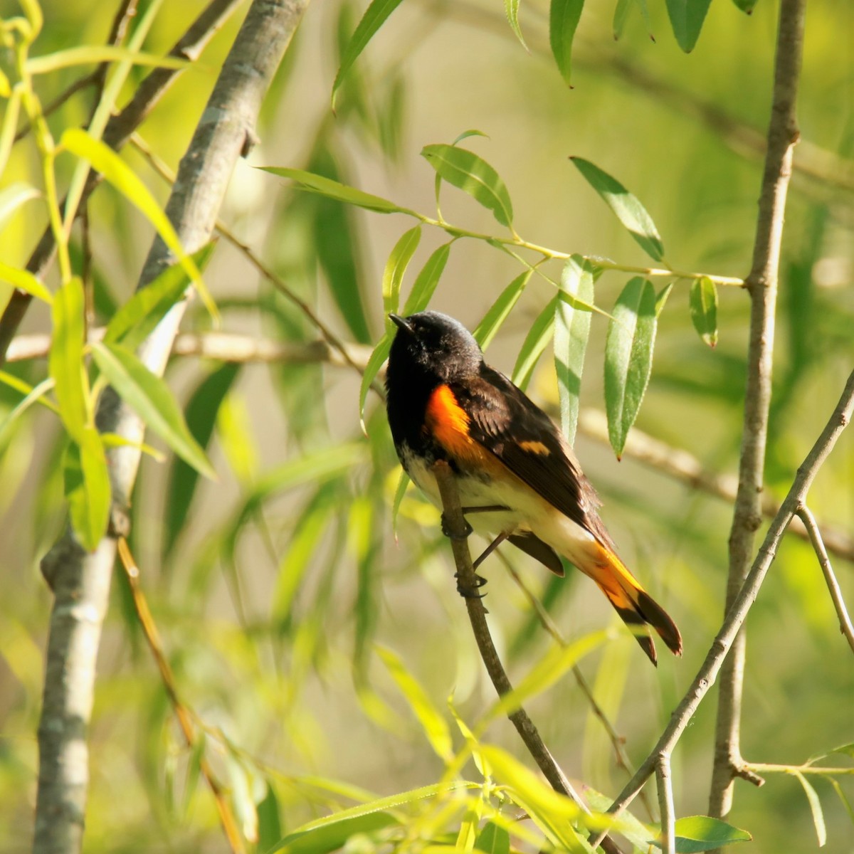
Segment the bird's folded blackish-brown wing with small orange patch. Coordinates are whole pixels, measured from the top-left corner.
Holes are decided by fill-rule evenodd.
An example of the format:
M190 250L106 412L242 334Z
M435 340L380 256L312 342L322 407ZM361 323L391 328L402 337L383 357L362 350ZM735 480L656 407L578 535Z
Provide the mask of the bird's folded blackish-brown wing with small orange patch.
M470 418L471 438L500 459L530 488L613 547L596 508L599 496L551 418L499 371L484 365L480 377L452 384Z

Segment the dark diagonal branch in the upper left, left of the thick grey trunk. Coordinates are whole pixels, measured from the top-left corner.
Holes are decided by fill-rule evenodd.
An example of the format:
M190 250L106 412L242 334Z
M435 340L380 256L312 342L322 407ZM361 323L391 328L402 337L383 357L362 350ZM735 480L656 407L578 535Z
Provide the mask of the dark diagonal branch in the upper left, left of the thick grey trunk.
M208 6L202 10L196 20L184 35L178 39L167 56L174 56L188 61L195 60L208 44L213 35L219 30L223 22L237 8L241 0L211 0ZM140 126L160 101L164 93L173 82L178 79L178 74L183 68L157 67L149 73L137 88L131 100L119 114L114 115L104 127L102 141L110 148L118 151L130 138L138 126ZM93 76L92 83L97 83ZM83 194L80 196L78 210L85 207L85 202L91 196L93 190L101 183L100 173L92 170L86 178ZM61 207L64 207L62 202ZM26 269L36 278L44 279L50 265L56 255L56 241L50 228L45 229L36 248L26 263ZM27 309L32 302L32 295L25 290L15 289L9 298L9 302L0 315L0 366L5 360L6 350L9 342L15 337L15 333L21 321L26 315Z

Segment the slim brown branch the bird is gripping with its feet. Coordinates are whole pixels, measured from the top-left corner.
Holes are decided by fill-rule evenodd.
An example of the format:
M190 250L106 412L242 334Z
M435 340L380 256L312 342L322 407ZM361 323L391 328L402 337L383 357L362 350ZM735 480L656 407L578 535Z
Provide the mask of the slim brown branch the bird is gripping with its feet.
M463 508L459 502L457 483L450 465L442 459L434 463L433 474L442 496L442 509L453 549L453 561L457 566L459 588L474 591L477 589L477 576L471 564L471 553L469 553L468 535L470 529L465 523ZM512 691L512 685L507 678L504 665L501 664L501 659L498 657L498 652L495 650L492 635L489 634L486 608L483 607L483 601L475 595L465 595L464 599L469 612L471 629L474 632L481 658L483 658L483 664L486 666L495 691L499 697L503 697ZM528 713L520 706L507 717L516 727L524 745L528 748L528 752L554 791L566 795L580 810L588 813L590 810L588 810L587 804L573 789L570 781L566 779L564 772L555 762L554 757L537 732L534 722L528 717ZM619 848L609 837L603 836L603 839L600 839L600 844L608 854L619 854Z

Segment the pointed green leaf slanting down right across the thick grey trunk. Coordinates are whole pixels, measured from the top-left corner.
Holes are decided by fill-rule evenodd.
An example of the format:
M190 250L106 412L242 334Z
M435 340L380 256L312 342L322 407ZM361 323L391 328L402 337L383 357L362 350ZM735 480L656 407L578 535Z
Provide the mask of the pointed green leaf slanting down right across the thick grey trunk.
M193 438L172 392L161 377L149 371L120 344L96 342L92 356L116 393L131 406L181 459L205 477L216 480L216 472L205 452Z

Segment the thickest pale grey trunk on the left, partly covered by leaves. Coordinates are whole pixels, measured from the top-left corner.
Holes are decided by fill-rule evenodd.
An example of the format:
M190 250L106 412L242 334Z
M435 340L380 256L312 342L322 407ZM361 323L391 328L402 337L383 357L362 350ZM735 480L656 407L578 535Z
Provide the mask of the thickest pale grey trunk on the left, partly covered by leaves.
M221 7L228 5L220 3ZM237 159L245 152L248 140L254 138L262 97L306 5L307 0L254 0L237 33L167 204L167 215L187 252L208 242ZM155 239L139 286L155 278L169 262L166 247ZM182 301L173 307L140 348L143 363L158 375L166 366L185 305ZM101 430L137 444L109 452L114 504L122 506L137 474L143 424L109 389L99 401L97 424ZM114 513L109 535L91 554L85 553L67 530L43 561L44 575L56 598L38 729L34 842L38 854L73 854L82 844L88 782L86 729L95 661L115 559L115 537L124 535L126 529L126 518Z

